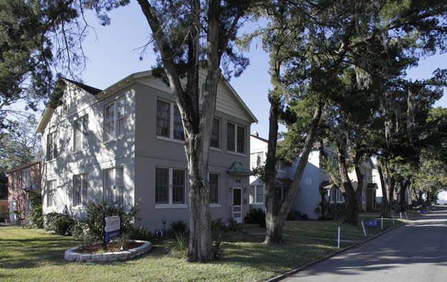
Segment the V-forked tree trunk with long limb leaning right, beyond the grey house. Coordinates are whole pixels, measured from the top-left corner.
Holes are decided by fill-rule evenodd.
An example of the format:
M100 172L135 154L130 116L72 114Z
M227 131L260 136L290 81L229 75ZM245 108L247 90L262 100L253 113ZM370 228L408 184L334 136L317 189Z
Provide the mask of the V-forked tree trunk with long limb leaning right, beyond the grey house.
M309 132L307 132L307 137L305 140L305 145L303 148L303 153L301 154L300 161L298 163L298 167L296 167L296 172L294 175L294 179L292 180L292 185L289 189L289 193L287 193L287 198L285 198L281 208L276 207L274 204L274 178L268 179L269 185L265 185L268 193L268 198L265 199L265 239L264 244L274 244L283 242L283 227L285 224L285 219L290 212L290 208L295 200L296 192L298 191L298 187L301 182L301 178L303 177L304 169L307 165L307 161L309 159L309 154L312 151L312 145L314 144L314 139L316 136L316 130L318 128L318 124L320 122L321 113L323 111L324 103L318 103L318 107L314 112L314 116L312 117L312 122L309 126ZM270 111L270 115L272 115L272 110ZM270 138L275 138L278 135L277 129L277 119L274 121L276 124L276 131L269 132L269 143ZM275 125L272 124L272 120L270 121L270 130L274 129ZM275 142L276 143L276 142ZM273 145L273 144L272 144ZM275 145L276 148L276 145ZM270 150L270 146L269 146ZM268 152L269 154L269 152ZM276 154L276 150L274 152ZM265 169L267 169L267 163L265 165ZM274 167L270 166L270 169L274 169ZM270 172L270 175L273 175ZM276 171L274 172L276 175Z

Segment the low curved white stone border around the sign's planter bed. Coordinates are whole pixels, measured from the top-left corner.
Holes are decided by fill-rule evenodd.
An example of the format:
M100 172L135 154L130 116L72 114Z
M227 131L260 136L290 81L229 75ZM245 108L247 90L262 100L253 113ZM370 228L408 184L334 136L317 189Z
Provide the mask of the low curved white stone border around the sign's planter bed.
M74 252L79 246L71 248L65 251L65 259L67 261L76 262L93 262L93 261L125 261L126 259L133 259L140 255L145 254L151 250L151 242L134 240L133 242L143 243L137 248L132 248L130 250L124 250L122 252L104 252L102 254L81 254L79 252ZM97 243L101 244L101 243Z

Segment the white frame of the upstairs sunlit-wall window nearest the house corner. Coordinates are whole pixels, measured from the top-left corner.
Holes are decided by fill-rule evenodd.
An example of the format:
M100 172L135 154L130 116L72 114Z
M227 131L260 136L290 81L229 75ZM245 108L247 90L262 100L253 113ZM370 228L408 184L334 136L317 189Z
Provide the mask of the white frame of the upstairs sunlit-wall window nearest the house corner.
M113 117L108 122L107 120L107 108L113 108ZM121 110L121 111L120 111ZM104 141L114 141L124 137L124 118L126 117L126 102L124 97L116 99L104 106ZM110 128L113 130L109 130Z

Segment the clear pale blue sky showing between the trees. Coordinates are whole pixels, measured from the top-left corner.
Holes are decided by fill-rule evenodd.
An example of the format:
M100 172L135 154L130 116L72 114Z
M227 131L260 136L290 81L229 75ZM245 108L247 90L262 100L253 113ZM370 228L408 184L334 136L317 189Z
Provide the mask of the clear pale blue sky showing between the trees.
M131 1L124 8L112 10L109 13L111 25L98 25L93 13L89 12L87 21L95 30L91 30L83 47L89 58L87 69L83 73L84 83L99 89L105 89L131 73L146 71L155 65L155 54L152 47L140 58L140 47L150 40L151 32L144 18L140 5ZM250 29L252 24L246 25ZM251 132L257 130L260 137L268 137L269 103L268 89L271 88L268 75L268 55L252 43L252 49L247 56L250 66L239 78L232 78L230 84L241 96L248 108L259 120L252 124ZM447 67L447 54L421 60L419 67L408 71L408 77L415 79L429 78L437 68ZM444 95L435 106L447 108L447 97Z

